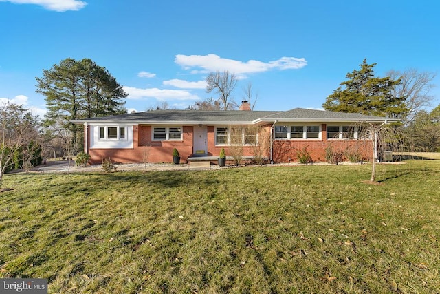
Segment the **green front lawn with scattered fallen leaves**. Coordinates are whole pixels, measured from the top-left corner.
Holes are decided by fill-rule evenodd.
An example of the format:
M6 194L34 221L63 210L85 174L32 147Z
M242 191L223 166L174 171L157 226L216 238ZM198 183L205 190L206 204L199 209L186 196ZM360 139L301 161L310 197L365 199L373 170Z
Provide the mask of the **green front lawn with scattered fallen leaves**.
M439 293L440 162L12 174L0 277L50 293ZM397 290L396 290L397 287Z

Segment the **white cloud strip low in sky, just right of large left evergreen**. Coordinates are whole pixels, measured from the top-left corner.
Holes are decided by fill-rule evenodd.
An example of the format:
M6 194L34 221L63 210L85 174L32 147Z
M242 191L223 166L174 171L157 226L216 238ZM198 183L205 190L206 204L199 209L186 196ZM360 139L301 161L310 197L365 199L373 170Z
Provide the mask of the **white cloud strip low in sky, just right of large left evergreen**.
M157 88L141 89L124 86L124 91L129 93L129 96L127 97L128 99L156 98L159 101L165 101L166 99L199 100L199 96L193 95L184 90L168 90Z

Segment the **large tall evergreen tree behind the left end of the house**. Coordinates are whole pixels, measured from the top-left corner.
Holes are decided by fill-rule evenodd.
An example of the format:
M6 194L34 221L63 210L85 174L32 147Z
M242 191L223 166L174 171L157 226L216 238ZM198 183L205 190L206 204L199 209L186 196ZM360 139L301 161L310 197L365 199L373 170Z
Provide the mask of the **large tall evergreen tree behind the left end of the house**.
M61 122L72 132L73 146L78 146L83 136L81 127L70 120L126 113L124 98L128 94L104 67L91 59L65 59L50 70L43 70L43 77L36 81L36 92L46 97L45 125L53 127Z

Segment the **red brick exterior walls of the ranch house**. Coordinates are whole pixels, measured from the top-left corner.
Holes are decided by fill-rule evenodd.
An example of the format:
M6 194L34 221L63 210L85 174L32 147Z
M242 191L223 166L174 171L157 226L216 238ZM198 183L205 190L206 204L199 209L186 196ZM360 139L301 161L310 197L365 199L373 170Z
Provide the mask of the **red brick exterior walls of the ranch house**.
M371 140L327 140L327 127L322 124L322 140L274 140L274 162L296 162L298 151L307 150L314 162L325 162L326 149L342 154L342 160L349 160L349 154L360 154L366 160L371 160L373 143ZM92 164L101 164L102 158L111 158L114 162L173 162L173 149L177 148L181 162L186 162L192 155L193 133L192 126L183 127L183 140L153 141L151 126L135 125L133 127L133 149L89 149ZM208 155L219 156L221 148L230 155L230 147L215 145L215 128L208 126ZM271 125L265 125L262 133L270 135ZM88 133L89 136L91 135ZM262 138L263 135L260 136ZM261 139L260 139L261 140ZM87 140L90 144L90 140ZM267 142L264 156L270 158L270 141ZM243 156L252 156L252 146L243 147Z

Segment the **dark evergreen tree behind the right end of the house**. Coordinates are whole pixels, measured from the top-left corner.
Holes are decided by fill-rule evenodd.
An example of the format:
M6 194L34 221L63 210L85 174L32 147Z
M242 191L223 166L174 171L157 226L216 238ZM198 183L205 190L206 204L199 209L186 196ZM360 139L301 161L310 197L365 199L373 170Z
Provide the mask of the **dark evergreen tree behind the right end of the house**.
M399 79L377 78L373 67L366 59L360 70L347 74L347 81L340 83L333 94L322 105L324 109L335 112L351 112L375 116L401 118L408 113L405 97L393 95L393 87L399 85Z

